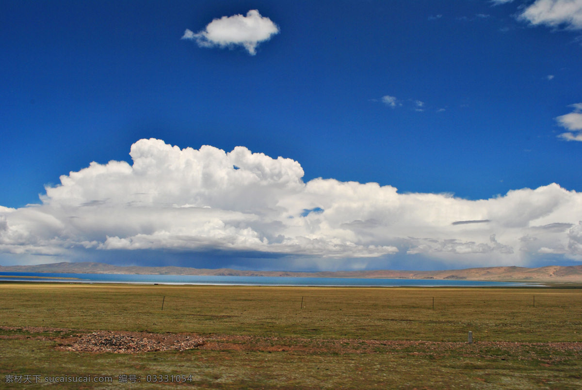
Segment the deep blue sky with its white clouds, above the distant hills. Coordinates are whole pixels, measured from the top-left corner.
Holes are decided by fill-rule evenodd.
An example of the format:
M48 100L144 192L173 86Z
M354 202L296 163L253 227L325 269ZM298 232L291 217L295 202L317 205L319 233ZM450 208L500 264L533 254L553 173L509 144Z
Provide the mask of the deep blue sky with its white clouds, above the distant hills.
M109 262L131 259L127 261L135 263L139 262L136 257L165 256L172 259L166 262L206 267L428 269L574 264L582 260L582 241L577 241L582 237L578 231L578 221L582 220L579 0L56 0L1 1L0 5L0 222L4 221L0 262L4 264L104 257ZM235 22L243 19L233 17L250 17L250 10L257 10L257 20L263 24L250 33L237 30L240 26ZM219 42L213 40L210 25L221 17L225 17L223 24L212 25L226 31ZM228 30L230 27L234 30ZM193 37L182 39L187 30ZM247 33L259 38L249 38L247 46L239 44ZM66 192L60 177L70 172L88 174L83 169L91 162L99 165L94 170L113 169L106 165L110 160L125 161L131 167L136 159L129 155L130 148L140 139L150 138L164 142L143 142L135 146L140 150L137 154L150 153L152 148L165 150L162 144L195 150L211 145L225 152L244 146L271 158L267 161L251 155L255 157L248 159L258 159L251 164L254 168L267 164L269 174L283 169L283 176L294 177L289 182L293 185L283 185L278 176L276 185L286 186L287 192L277 187L272 194L275 201L269 199L255 208L244 199L253 199L258 190L249 190L251 182L229 178L235 181L225 187L198 184L202 187L170 191L163 202L150 199L147 204L151 208L141 209L151 218L159 211L152 205L161 203L243 213L244 218L260 220L261 227L212 216L212 221L222 223L215 226L215 232L228 235L230 228L238 229L229 236L236 242L242 235L255 234L257 242L267 240L265 247L233 244L235 241L225 247L220 240L214 241L220 235L180 224L179 228L171 223L154 226L151 221L123 230L111 219L101 230L88 231L87 227L68 226L70 217L81 218L73 209L68 209L66 216L56 214L57 204L61 209L85 205L95 208L83 214L92 221L107 214L104 207L125 205L117 214L127 212L125 218L135 219L135 210L128 211L132 206L125 198L137 193L134 188L118 186L103 193L91 192L91 188L106 187L104 183L115 180L90 174L93 181L79 179ZM222 163L236 160L231 157L224 157ZM153 175L146 180L152 188L178 188L179 183L189 180L164 173L168 162L158 154L149 158L159 170L158 176L153 171L144 173ZM271 166L275 162L282 165ZM290 162L295 162L292 168ZM303 174L296 169L299 164ZM257 188L275 185L264 169L259 169L262 176L253 181ZM162 176L173 177L175 182L157 183L155 177ZM312 182L317 178L339 184L336 189L313 190L320 194L318 198L310 189L324 183ZM342 185L350 181L378 183L381 193L374 198L372 190L366 189L364 195L354 195L357 199L349 202L363 202L363 206L346 211L332 194L336 190L343 194ZM552 183L558 186L548 187ZM294 185L303 185L311 195ZM52 195L45 186L54 189ZM295 189L291 191L289 186ZM422 206L410 206L415 210L460 207L465 211L443 211L447 216L438 222L427 219L413 223L406 217L395 217L405 213L404 209L385 219L373 218L378 210L403 203L398 196L398 201L388 199L386 194L392 194L393 188L399 195L426 198L432 194L442 201L430 207L421 201ZM237 192L240 203L217 201L228 198L226 193L235 189L241 191ZM193 195L212 191L219 192L206 203L201 195ZM359 194L359 190L354 191ZM537 195L524 195L538 194L535 191L553 191L544 197L549 208L540 215L534 209L543 208L543 202L530 199ZM42 201L39 195L44 197ZM384 199L385 195L388 198L382 202L386 203L374 209L371 205L375 201L370 199ZM301 201L285 201L293 196ZM521 200L513 204L512 196ZM522 205L522 198L529 203ZM491 206L482 209L480 205L487 199ZM501 206L495 199L511 203L503 206L508 210L525 207L519 209L520 215L533 213L532 217L520 227L512 226L508 221L515 216L496 214ZM452 206L449 202L456 203ZM29 204L41 206L26 206ZM317 207L317 212L304 211ZM267 217L267 209L280 213ZM48 215L60 224L40 223L38 216L29 215L33 211L41 213L43 221ZM289 217L294 223L301 220L303 230L287 226ZM204 220L200 216L189 218ZM375 222L368 224L365 232L346 227L354 221L371 220ZM455 229L466 226L470 231L450 231L449 220L488 222L457 224ZM274 224L285 228L272 228ZM434 229L423 231L430 224ZM481 229L478 232L477 226ZM544 226L549 227L544 230ZM423 227L420 231L425 237L411 236L418 227ZM535 228L552 234L538 237L528 230ZM138 236L159 238L162 233L168 236L161 241L150 237L149 246L136 244ZM186 244L168 238L178 235ZM493 239L491 235L495 235ZM211 236L214 238L208 238ZM55 243L55 237L62 242ZM544 244L524 246L529 242L524 237ZM118 242L115 246L111 241L109 245L109 238L129 244L123 241L127 245ZM425 238L440 244L435 247L415 241ZM303 239L312 240L311 244L301 244ZM327 249L307 250L313 240L335 242L335 246L329 244L333 246L329 249L328 244L322 244ZM151 244L154 241L158 244ZM459 245L451 249L450 242L465 249ZM350 252L342 246L352 244L368 249ZM497 244L511 250L501 250ZM370 246L385 249L371 250ZM114 256L118 260L111 260L113 252L108 249L120 251ZM140 251L147 255L136 255ZM216 255L217 251L222 254ZM201 260L187 260L193 256Z

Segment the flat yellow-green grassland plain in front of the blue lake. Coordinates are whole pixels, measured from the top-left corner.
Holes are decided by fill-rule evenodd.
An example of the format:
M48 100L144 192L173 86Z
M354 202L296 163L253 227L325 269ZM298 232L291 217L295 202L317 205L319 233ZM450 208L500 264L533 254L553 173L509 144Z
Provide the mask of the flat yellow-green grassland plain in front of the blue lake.
M113 377L111 384L84 388L582 388L582 289L576 286L3 282L0 296L0 387L6 388L27 387L6 384L14 374ZM192 333L207 344L133 355L58 349L94 330ZM120 374L141 382L120 384ZM153 384L148 374L186 374L191 381Z

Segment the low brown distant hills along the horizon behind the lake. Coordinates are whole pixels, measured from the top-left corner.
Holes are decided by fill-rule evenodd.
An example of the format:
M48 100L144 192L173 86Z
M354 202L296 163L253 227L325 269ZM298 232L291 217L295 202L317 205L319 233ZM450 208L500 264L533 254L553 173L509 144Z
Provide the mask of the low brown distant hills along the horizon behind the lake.
M186 267L119 267L104 263L52 263L36 266L0 266L0 272L38 272L71 274L140 274L140 275L218 275L218 276L285 276L386 279L452 279L489 281L561 281L582 282L582 265L526 267L484 267L445 271L240 271L228 268L197 269Z

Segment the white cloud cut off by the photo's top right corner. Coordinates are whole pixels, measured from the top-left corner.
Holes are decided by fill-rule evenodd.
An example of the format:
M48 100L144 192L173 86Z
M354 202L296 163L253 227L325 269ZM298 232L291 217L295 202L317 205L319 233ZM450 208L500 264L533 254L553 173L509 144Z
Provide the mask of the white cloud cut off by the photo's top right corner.
M565 26L569 30L582 29L582 0L536 0L519 18L537 26Z

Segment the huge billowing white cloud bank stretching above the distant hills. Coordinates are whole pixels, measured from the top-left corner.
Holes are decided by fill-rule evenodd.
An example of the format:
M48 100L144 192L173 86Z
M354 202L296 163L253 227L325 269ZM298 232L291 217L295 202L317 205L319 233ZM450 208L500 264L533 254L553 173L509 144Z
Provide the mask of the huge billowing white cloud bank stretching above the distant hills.
M582 260L582 194L558 184L470 201L316 178L292 159L159 139L61 176L41 203L0 206L0 253L237 251L318 261L422 254L464 266ZM47 262L43 259L42 262ZM414 264L411 264L414 267Z

